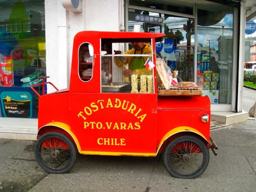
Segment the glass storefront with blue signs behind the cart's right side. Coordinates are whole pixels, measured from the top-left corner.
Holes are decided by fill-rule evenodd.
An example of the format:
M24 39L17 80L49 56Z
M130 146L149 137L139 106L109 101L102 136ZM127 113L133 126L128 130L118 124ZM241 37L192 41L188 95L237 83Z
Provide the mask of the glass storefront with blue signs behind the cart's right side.
M139 1L127 5L127 30L165 33L156 53L179 71L182 81L196 82L209 96L212 110L236 110L239 4L210 1ZM233 106L232 106L233 105Z

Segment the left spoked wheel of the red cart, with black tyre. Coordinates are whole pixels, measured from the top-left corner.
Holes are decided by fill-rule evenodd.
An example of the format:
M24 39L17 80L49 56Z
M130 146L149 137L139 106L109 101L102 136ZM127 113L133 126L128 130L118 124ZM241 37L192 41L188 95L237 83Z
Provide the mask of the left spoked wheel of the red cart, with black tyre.
M49 132L40 136L34 153L40 167L48 173L66 173L76 162L76 148L62 133Z

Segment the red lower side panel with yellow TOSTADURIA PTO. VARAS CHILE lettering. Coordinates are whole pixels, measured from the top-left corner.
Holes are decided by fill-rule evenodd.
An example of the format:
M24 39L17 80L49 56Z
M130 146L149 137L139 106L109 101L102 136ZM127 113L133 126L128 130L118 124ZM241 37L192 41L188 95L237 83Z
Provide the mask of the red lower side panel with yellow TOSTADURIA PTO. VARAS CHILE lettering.
M74 93L71 103L82 151L156 152L157 94Z

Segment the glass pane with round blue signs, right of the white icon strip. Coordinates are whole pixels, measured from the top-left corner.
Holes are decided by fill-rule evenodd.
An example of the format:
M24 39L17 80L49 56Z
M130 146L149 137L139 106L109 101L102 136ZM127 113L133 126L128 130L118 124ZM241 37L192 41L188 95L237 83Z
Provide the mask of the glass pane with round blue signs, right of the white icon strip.
M158 55L178 71L178 81L194 81L194 19L165 14L165 42Z

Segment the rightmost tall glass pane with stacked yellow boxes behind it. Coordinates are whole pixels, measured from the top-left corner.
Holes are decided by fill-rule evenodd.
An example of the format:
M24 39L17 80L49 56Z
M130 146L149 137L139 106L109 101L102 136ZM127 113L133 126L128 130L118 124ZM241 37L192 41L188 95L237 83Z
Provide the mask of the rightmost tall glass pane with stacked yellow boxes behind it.
M197 83L211 103L231 104L233 8L198 5Z

